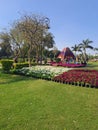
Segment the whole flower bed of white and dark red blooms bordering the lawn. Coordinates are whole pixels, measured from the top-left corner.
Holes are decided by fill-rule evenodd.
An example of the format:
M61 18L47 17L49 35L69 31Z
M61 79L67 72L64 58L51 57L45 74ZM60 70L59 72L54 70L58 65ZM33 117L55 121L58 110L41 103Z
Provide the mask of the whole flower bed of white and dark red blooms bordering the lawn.
M96 70L72 70L71 68L53 66L33 66L16 69L14 73L66 84L98 88L98 71Z

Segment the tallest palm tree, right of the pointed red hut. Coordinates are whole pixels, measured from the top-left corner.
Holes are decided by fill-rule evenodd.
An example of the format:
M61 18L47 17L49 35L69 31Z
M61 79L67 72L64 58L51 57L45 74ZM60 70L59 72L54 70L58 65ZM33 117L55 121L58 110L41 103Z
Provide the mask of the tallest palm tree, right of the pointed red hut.
M90 41L89 39L83 40L82 43L79 44L79 47L83 50L83 56L84 56L84 63L87 62L87 54L86 49L93 49L93 47L90 45L93 41Z

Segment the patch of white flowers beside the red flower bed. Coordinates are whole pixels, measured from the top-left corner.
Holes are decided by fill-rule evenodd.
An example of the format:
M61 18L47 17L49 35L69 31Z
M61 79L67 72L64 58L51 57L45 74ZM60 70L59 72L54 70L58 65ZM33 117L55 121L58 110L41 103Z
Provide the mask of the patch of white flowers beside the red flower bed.
M68 70L69 68L62 68L62 67L33 66L33 67L24 67L22 69L16 69L14 70L14 73L42 79L52 79L55 76Z

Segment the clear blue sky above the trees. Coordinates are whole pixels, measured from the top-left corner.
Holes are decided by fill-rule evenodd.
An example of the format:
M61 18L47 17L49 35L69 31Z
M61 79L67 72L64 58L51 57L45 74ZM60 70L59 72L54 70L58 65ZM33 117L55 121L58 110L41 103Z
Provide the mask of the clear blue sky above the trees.
M0 32L24 13L50 19L49 31L59 50L87 38L98 47L98 0L0 0Z

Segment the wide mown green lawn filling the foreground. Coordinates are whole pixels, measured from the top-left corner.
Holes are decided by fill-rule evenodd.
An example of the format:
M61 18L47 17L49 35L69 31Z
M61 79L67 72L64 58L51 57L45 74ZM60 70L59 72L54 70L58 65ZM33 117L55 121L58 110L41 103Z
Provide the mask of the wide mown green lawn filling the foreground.
M0 130L98 130L98 89L0 73Z

